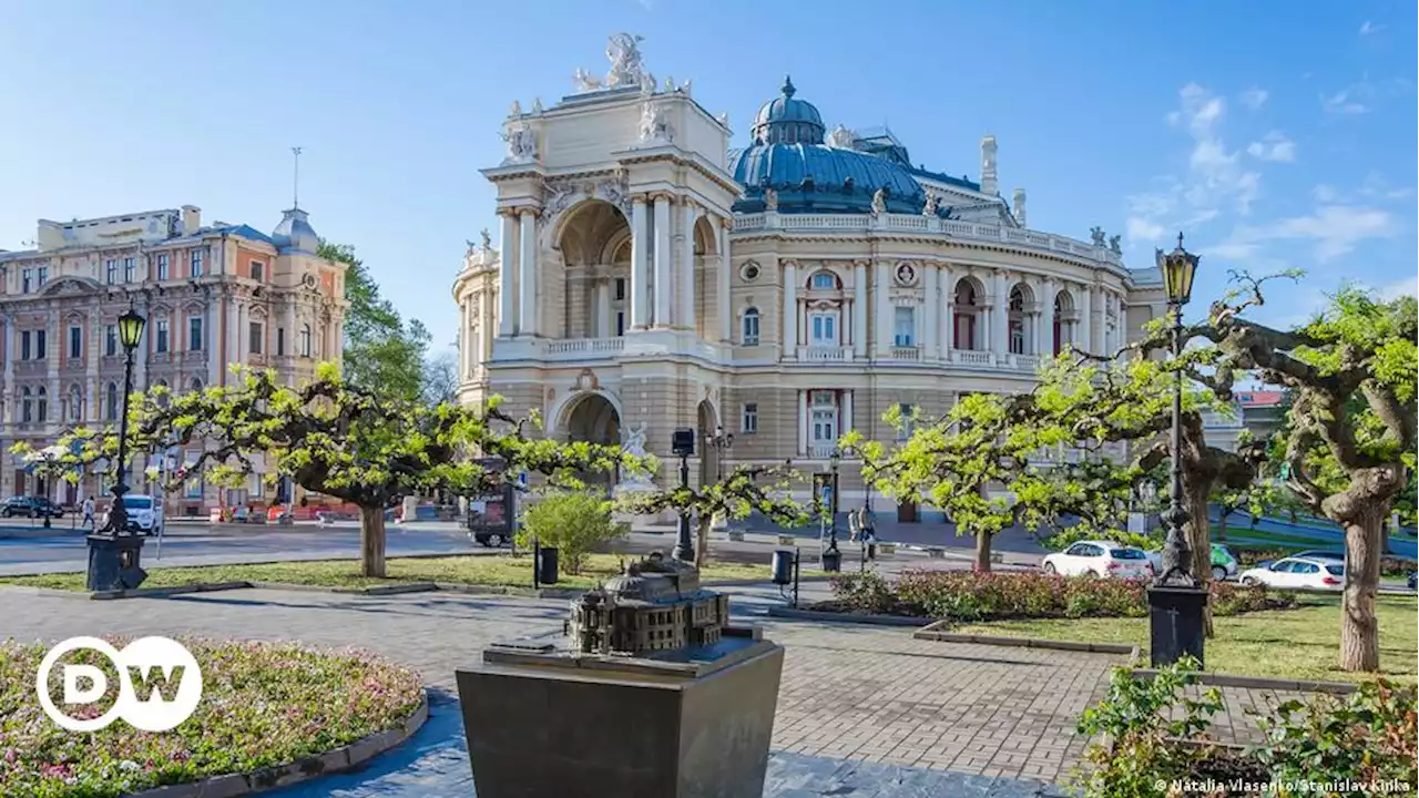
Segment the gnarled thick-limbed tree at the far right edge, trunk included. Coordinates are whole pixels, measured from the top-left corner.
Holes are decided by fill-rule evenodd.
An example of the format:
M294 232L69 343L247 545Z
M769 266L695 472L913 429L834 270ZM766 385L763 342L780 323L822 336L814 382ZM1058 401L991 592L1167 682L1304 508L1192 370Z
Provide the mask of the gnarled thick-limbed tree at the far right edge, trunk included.
M1314 321L1280 331L1244 318L1264 302L1264 280L1235 277L1240 293L1213 304L1198 332L1223 352L1219 372L1291 389L1286 484L1345 530L1340 666L1376 670L1384 528L1419 450L1419 298L1344 288ZM1347 409L1354 399L1362 405Z

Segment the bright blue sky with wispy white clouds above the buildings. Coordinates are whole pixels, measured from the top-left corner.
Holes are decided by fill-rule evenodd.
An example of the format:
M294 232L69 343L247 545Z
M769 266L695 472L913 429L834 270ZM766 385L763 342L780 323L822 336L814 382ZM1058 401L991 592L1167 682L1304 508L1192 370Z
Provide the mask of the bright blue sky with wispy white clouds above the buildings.
M1264 315L1301 319L1342 280L1419 293L1419 6L1405 1L922 1L871 6L9 0L0 4L0 248L37 217L193 203L270 230L291 202L355 244L385 293L453 341L465 239L512 99L551 105L606 35L692 80L736 143L792 72L829 125L888 124L912 159L978 176L1030 226L1122 233L1132 267L1178 229L1227 268L1308 271Z

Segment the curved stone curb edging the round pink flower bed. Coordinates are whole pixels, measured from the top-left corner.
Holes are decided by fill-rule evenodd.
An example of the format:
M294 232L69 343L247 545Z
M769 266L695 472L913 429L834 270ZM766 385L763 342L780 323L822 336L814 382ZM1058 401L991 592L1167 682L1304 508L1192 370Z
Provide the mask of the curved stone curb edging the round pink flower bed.
M264 792L277 787L289 787L322 775L355 770L413 737L427 720L429 690L426 689L414 714L404 718L404 724L400 728L376 731L333 751L301 757L284 765L250 772L214 775L189 784L155 787L142 792L132 792L126 798L234 798L237 795Z

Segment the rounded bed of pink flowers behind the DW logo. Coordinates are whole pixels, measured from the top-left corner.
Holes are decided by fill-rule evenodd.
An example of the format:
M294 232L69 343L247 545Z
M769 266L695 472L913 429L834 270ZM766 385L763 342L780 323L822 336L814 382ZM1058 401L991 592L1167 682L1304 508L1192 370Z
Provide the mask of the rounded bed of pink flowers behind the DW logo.
M111 639L122 649L128 640ZM419 677L372 653L287 643L183 639L201 666L203 699L177 728L150 734L115 721L95 733L60 728L40 709L34 679L45 645L0 642L0 795L109 798L250 772L402 728L420 706ZM116 673L95 652L62 662ZM50 692L62 700L61 669ZM74 717L95 717L112 693Z

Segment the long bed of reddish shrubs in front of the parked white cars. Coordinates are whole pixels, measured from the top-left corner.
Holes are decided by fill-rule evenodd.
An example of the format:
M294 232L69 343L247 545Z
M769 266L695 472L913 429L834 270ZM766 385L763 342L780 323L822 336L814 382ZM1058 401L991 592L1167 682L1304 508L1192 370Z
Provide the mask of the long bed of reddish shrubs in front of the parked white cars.
M1025 618L1141 618L1148 613L1142 579L1087 579L1047 574L976 574L971 571L907 571L897 582L877 574L850 574L832 581L834 599L813 609L914 615L961 622ZM1237 615L1294 605L1288 594L1264 586L1210 582L1212 612Z

